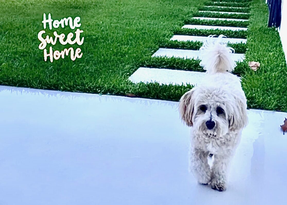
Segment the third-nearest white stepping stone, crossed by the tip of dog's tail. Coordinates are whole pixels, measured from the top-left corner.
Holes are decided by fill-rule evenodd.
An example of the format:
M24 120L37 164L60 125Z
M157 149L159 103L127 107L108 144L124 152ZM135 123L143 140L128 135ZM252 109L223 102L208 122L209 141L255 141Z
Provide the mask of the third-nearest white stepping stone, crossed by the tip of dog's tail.
M205 36L187 36L187 35L174 35L171 41L201 41L205 42L207 39L216 41L216 37L210 38ZM236 39L236 38L222 38L225 43L246 43L247 39Z

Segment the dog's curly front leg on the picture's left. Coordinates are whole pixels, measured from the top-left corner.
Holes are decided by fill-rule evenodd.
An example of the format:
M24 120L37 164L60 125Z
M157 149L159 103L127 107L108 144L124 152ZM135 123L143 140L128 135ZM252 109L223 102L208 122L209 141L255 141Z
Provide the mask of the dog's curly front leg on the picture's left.
M198 183L203 185L207 185L211 177L211 170L207 160L208 154L208 152L199 148L191 147L190 150L190 171L196 177Z

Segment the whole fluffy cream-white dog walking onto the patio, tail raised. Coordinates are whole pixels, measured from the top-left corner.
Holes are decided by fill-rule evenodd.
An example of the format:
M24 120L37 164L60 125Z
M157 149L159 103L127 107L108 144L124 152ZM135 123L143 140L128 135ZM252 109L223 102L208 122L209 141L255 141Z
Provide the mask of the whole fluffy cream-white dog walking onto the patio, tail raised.
M190 170L200 184L218 191L226 190L228 164L248 121L241 81L230 73L236 66L234 49L221 43L222 37L210 36L199 49L206 76L179 102L181 118L191 127Z

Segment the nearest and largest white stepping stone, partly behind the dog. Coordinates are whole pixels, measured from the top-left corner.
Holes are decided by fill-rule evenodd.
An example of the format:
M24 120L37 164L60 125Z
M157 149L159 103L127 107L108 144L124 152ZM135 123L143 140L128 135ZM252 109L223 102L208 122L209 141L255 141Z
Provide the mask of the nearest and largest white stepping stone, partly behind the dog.
M129 80L133 83L157 82L165 85L196 85L205 75L205 72L141 67L129 77Z

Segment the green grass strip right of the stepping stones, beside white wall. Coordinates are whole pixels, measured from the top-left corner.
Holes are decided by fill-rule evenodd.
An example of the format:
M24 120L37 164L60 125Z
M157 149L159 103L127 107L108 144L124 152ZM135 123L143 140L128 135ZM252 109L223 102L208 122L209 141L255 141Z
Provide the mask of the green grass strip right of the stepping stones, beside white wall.
M267 28L268 7L265 1L250 3L246 63L260 62L258 71L246 69L242 86L249 108L287 111L286 61L278 31Z

